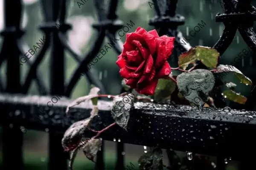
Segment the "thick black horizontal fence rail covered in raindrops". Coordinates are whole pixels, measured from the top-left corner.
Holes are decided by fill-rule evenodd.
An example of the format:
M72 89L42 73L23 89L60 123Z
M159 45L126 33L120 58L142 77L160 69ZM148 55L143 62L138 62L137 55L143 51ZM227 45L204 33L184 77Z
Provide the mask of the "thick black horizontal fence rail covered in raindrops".
M63 98L51 108L47 102L50 96L23 96L0 94L0 124L6 120L27 129L45 130L49 128L63 133L73 122L90 116L92 105L85 102L70 108L65 115L67 104L73 100ZM15 104L14 104L15 103ZM90 126L102 129L113 123L112 102L99 101L99 117ZM40 110L41 119L35 119ZM159 105L134 103L128 122L128 131L118 125L102 134L102 139L119 138L124 143L150 147L172 148L180 151L212 156L227 156L232 159L246 159L244 154L256 151L256 114L253 111L238 111L230 108L212 109L182 105ZM92 136L87 131L85 136Z

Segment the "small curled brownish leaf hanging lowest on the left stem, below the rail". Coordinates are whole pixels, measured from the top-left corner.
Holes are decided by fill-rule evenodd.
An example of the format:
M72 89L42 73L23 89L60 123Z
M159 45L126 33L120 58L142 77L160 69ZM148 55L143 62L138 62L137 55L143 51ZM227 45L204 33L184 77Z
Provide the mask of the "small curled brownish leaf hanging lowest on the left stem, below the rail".
M83 148L84 155L90 161L93 161L94 156L96 156L101 146L102 146L102 141L100 139L91 139L89 142L87 142L86 145L84 145L84 148Z

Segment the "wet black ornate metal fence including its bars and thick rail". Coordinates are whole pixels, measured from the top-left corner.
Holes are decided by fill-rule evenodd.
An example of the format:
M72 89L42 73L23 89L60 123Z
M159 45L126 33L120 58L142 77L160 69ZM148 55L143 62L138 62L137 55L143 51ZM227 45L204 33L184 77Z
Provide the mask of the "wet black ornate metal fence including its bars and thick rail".
M64 131L75 121L89 117L91 106L84 104L80 107L71 108L70 114L64 114L67 104L72 100L69 97L74 86L79 81L81 74L89 81L99 87L105 93L104 86L93 77L90 68L85 67L100 51L103 40L108 37L117 54L122 51L122 43L115 43L118 39L117 31L122 28L116 15L118 0L110 0L107 17L102 11L103 0L95 0L99 21L93 25L98 31L93 48L84 56L79 56L68 45L64 39L64 34L71 28L65 23L67 0L41 0L45 22L41 26L44 37L39 41L42 46L41 52L25 51L20 38L24 31L20 29L22 3L21 0L5 0L5 28L1 32L3 36L3 46L0 52L0 65L7 60L7 83L0 82L0 125L3 126L3 168L19 170L23 169L23 131L25 127L34 130L49 129L49 170L67 169L68 155L63 152L61 139ZM216 22L223 22L225 28L222 36L213 46L221 55L233 41L238 29L247 45L256 51L256 35L253 32L253 21L256 16L256 9L250 5L251 0L223 0L226 14L217 14ZM189 42L181 43L183 36L177 30L183 25L185 18L176 14L177 0L153 0L156 16L149 21L149 25L158 28L161 35L176 37L175 48L180 52L186 51L190 46ZM166 8L162 8L165 6ZM153 6L152 6L153 7ZM59 25L56 27L56 23ZM131 24L131 23L129 23ZM203 23L201 23L203 24ZM127 25L128 26L128 25ZM120 36L120 35L119 35ZM186 39L185 39L186 40ZM47 48L51 47L50 64L50 88L47 89L38 71L38 65L44 58ZM71 52L74 59L80 63L70 82L64 80L64 51ZM35 54L34 61L29 60L29 55ZM20 55L22 57L20 57ZM25 57L23 56L25 55ZM26 61L25 61L26 60ZM27 62L30 65L28 74L23 84L20 84L20 67ZM254 63L253 63L254 64ZM251 64L251 65L253 65ZM198 68L203 68L198 65ZM14 71L15 70L15 71ZM84 74L83 74L84 73ZM1 79L1 78L0 78ZM38 96L27 96L32 80L36 80L40 91ZM252 77L253 79L253 77ZM253 79L255 82L255 79ZM49 96L45 96L49 95ZM53 96L63 97L58 102L53 102ZM245 155L256 152L253 147L256 143L254 134L256 132L256 120L253 114L256 96L256 88L253 89L245 105L241 106L244 111L226 110L223 97L215 96L215 105L218 109L209 110L192 108L186 106L169 106L159 104L135 103L131 109L131 118L128 124L128 132L119 127L113 127L102 134L102 139L120 139L117 142L116 170L124 170L124 143L139 144L149 147L160 147L165 149L190 151L217 156L217 168L225 169L224 159L232 159L250 164L253 158ZM49 102L54 103L48 107ZM48 106L47 106L48 105ZM111 118L111 102L99 101L99 120L103 123L91 126L103 128L113 122ZM150 110L149 110L150 109ZM245 111L247 110L247 111ZM35 119L38 117L40 119ZM151 128L148 127L151 122ZM12 124L12 126L10 126ZM212 128L214 127L214 128ZM156 129L163 129L159 133ZM211 129L211 131L209 131ZM194 131L194 133L191 133ZM152 133L153 132L153 133ZM90 136L90 132L86 133ZM12 154L11 154L12 153ZM14 161L14 162L13 162ZM246 167L246 165L244 165ZM96 161L96 170L104 170L103 149L99 151Z

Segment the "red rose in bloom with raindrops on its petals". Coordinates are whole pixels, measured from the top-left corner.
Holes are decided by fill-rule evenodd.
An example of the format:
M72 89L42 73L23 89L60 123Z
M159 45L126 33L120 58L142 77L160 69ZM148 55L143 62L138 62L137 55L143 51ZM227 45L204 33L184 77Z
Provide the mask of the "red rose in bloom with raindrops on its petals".
M158 79L171 73L166 60L172 54L174 40L175 37L159 37L156 30L147 32L140 27L127 33L124 49L116 61L126 85L140 94L153 95Z

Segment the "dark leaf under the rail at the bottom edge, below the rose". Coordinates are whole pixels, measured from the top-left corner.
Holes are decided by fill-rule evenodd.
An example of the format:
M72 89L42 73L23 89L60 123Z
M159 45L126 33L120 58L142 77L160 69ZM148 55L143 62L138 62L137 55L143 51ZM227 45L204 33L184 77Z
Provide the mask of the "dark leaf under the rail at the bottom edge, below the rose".
M139 170L163 170L163 152L156 148L140 156Z

